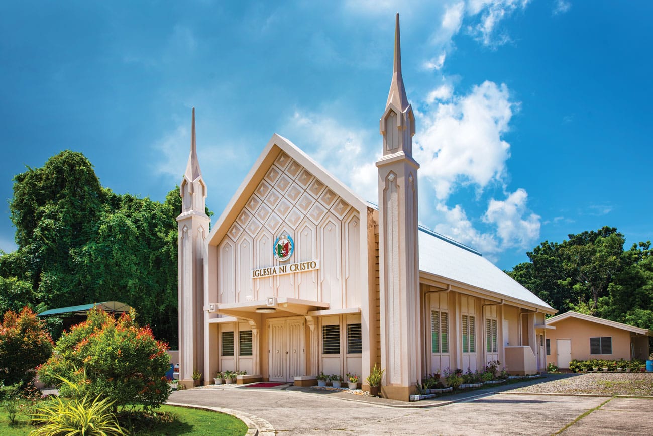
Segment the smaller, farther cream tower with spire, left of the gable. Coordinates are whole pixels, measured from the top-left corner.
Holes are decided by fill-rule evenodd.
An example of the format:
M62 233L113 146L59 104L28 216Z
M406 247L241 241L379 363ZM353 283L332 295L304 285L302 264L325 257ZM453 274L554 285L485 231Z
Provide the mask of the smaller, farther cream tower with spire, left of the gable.
M204 374L204 261L210 218L206 215L206 185L197 160L195 108L191 154L180 187L182 213L177 217L179 253L179 380L193 386L193 371Z

